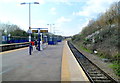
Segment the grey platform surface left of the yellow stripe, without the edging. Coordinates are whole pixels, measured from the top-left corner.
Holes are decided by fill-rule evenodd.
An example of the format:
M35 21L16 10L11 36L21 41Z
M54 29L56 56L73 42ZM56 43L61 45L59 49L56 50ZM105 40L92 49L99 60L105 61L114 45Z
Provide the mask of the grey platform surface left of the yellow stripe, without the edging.
M28 48L2 54L3 81L60 81L63 42L43 51Z

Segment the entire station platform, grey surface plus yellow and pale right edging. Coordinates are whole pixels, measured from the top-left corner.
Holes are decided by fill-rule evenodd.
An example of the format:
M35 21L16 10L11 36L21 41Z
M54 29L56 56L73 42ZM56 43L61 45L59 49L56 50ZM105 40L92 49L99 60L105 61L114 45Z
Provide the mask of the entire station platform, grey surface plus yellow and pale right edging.
M0 53L2 81L82 81L89 82L66 41L48 45L42 51L28 47Z

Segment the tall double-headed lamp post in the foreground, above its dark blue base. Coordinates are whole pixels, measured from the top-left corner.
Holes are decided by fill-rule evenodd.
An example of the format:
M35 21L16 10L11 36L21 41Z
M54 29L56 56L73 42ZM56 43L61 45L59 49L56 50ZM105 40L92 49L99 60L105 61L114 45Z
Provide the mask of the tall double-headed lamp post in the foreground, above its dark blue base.
M25 4L28 4L29 5L29 29L28 29L28 33L29 33L29 42L31 41L31 4L39 4L39 2L23 2L21 3L21 5L25 5Z

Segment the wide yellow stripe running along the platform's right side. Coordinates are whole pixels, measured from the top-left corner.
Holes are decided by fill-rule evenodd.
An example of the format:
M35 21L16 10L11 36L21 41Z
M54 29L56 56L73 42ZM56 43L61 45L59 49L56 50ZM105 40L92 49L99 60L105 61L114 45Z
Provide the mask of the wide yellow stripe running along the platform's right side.
M66 42L64 42L64 49L63 49L63 56L62 56L62 71L61 71L61 83L64 81L71 81L70 79L70 70L69 70L69 65L68 65L68 60L67 60L67 55L66 55Z

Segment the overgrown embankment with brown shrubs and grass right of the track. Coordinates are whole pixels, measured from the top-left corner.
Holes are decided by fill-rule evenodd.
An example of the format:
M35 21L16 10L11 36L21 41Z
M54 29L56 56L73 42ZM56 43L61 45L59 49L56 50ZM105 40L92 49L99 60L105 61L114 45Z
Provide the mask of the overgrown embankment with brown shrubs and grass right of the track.
M84 29L72 37L72 42L86 52L112 63L120 77L120 2L116 2L96 20L90 20Z

